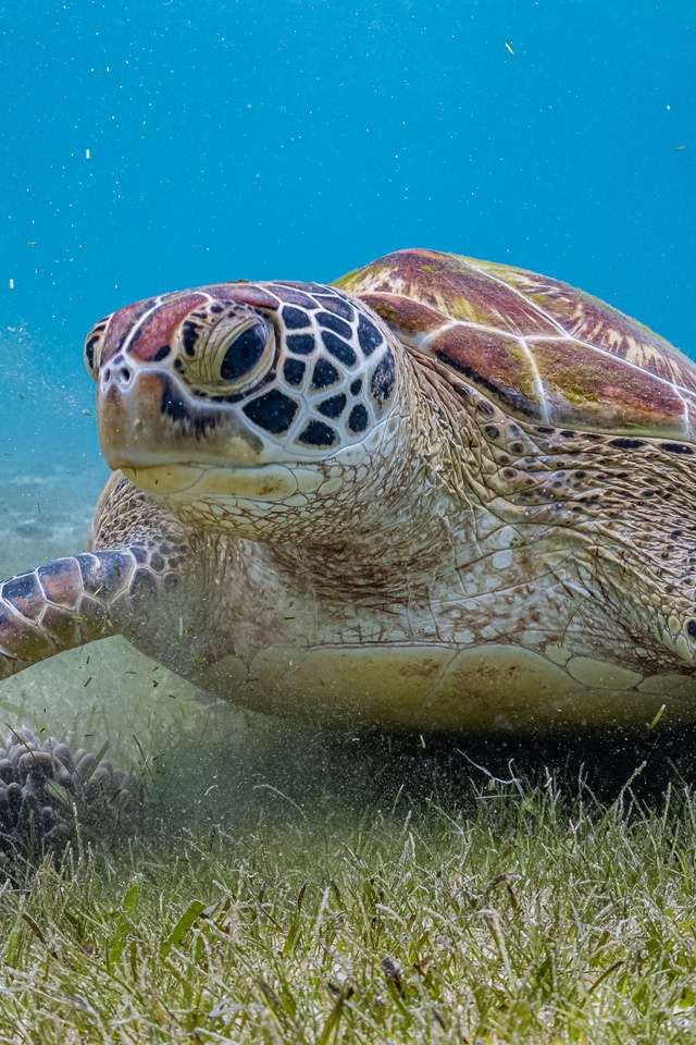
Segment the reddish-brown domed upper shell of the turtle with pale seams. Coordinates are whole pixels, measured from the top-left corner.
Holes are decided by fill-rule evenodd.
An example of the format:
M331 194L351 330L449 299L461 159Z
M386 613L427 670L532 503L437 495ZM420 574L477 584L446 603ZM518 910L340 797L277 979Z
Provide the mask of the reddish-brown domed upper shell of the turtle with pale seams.
M568 283L435 250L399 250L337 286L419 354L520 418L696 438L696 366Z

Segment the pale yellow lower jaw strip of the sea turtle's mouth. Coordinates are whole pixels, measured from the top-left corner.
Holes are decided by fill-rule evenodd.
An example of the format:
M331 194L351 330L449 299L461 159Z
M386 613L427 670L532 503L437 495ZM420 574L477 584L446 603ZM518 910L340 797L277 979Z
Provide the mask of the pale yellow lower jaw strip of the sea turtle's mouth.
M303 464L206 465L181 462L139 467L122 466L123 475L158 500L282 502L314 493L326 480Z

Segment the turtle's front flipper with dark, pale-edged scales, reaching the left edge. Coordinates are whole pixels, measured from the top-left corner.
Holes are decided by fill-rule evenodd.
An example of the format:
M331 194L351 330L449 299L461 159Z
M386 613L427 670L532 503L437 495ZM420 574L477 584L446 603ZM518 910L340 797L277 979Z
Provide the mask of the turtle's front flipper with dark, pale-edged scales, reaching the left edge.
M0 583L0 678L122 630L178 573L156 545L57 558Z

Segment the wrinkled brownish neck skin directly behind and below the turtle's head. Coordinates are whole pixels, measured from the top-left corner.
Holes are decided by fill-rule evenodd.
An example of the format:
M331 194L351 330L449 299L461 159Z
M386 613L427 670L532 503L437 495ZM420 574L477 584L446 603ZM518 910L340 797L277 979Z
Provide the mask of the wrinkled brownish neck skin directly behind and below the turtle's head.
M258 514L249 502L223 497L214 515L200 500L171 508L202 548L224 546L228 538L229 546L252 542L251 557L275 568L281 582L336 600L394 604L442 573L455 520L461 526L465 516L442 482L438 442L437 419L402 351L390 416L359 448L319 463L314 492Z

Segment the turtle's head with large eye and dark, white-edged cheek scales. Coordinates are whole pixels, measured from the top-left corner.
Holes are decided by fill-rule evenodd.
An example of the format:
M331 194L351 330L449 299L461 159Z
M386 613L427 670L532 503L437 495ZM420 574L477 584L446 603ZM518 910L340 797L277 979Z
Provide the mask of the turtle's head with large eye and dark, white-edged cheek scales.
M365 466L398 442L399 351L331 286L237 282L123 308L85 357L110 467L200 525L259 536L384 482Z

